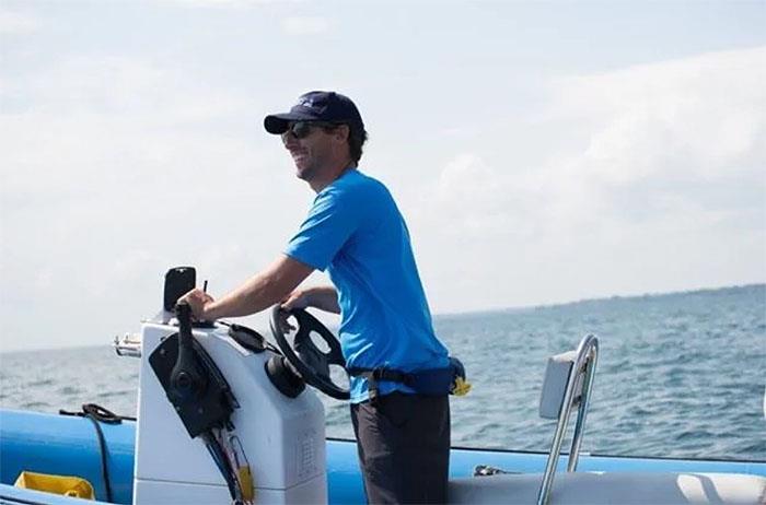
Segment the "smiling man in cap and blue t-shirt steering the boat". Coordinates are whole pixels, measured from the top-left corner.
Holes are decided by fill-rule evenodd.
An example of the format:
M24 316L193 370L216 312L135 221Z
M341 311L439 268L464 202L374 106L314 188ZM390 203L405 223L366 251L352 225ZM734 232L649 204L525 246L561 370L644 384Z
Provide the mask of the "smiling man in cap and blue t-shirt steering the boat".
M309 216L285 254L233 292L213 301L194 290L183 300L206 320L279 302L340 314L368 501L445 503L446 391L418 394L398 374L444 368L448 351L433 332L404 219L385 186L357 167L367 140L362 118L348 97L310 92L264 126L281 136L297 176L316 192ZM314 269L326 269L335 287L298 289ZM372 376L374 368L387 373Z

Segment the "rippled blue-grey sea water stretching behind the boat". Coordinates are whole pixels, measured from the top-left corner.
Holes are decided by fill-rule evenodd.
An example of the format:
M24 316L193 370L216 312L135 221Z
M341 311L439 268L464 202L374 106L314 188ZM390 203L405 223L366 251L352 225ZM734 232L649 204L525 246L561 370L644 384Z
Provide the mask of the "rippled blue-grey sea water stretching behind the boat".
M766 284L436 317L474 389L452 399L453 445L547 450L537 416L548 355L587 333L601 353L583 450L766 460ZM111 348L0 355L0 406L43 412L96 402L136 411L138 360ZM327 433L352 437L323 398Z

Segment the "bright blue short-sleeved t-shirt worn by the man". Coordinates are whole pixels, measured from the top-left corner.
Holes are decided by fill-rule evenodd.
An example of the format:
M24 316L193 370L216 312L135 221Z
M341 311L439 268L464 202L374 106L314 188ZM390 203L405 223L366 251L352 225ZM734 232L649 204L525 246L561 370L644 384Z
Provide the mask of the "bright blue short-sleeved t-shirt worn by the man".
M420 283L407 225L380 181L349 169L316 195L285 251L328 270L338 291L340 347L348 367L403 372L445 367ZM368 399L367 380L351 377L351 402ZM381 395L401 390L380 381Z

